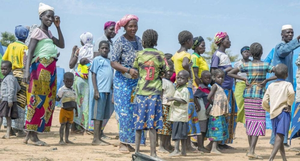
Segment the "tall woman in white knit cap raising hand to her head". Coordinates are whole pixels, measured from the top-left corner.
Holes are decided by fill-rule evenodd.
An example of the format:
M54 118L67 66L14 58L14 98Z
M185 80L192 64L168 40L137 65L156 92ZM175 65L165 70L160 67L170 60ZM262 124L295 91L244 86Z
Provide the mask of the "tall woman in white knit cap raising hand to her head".
M31 33L23 77L23 81L28 83L27 135L23 142L27 143L30 139L32 144L43 146L46 143L38 139L37 132L50 131L56 97L56 46L64 48L64 39L59 26L60 18L54 16L53 7L39 3L38 14L41 24ZM53 22L58 39L48 30Z

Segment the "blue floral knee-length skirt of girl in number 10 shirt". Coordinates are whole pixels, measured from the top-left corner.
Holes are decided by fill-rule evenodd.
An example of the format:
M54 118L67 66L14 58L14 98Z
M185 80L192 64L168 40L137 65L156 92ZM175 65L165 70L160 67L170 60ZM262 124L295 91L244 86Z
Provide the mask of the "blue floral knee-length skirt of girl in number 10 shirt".
M136 95L131 127L135 129L162 128L160 95Z

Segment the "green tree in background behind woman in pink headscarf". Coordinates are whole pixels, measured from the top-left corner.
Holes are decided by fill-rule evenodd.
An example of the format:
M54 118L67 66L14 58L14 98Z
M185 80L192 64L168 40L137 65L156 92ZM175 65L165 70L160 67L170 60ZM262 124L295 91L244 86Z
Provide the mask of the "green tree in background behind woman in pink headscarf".
M213 42L212 37L206 37L206 39L209 42L209 50L206 50L203 54L204 59L208 64L211 62L211 56L217 50L217 45ZM226 50L226 54L228 55L229 59L231 62L237 61L238 60L238 55L231 53L231 50Z

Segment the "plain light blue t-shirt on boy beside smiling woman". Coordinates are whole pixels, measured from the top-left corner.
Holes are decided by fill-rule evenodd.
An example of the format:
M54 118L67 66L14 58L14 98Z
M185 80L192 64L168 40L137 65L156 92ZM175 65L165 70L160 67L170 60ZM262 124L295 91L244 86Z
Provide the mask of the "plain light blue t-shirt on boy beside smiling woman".
M91 74L96 73L96 83L99 92L111 92L113 69L110 66L110 60L102 56L96 56L88 72L88 83L90 90L93 91Z

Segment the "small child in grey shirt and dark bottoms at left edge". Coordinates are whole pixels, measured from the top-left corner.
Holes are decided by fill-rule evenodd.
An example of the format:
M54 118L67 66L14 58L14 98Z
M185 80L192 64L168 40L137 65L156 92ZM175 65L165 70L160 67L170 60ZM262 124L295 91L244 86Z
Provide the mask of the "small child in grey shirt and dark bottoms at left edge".
M0 87L0 127L3 117L6 118L6 133L2 138L9 138L11 119L18 118L16 93L21 89L17 79L13 76L10 61L1 62L1 73L4 76Z

